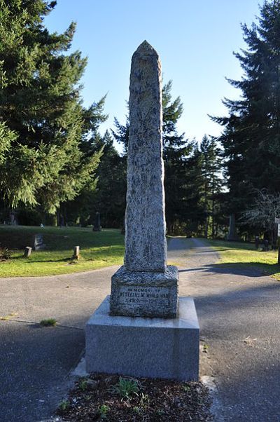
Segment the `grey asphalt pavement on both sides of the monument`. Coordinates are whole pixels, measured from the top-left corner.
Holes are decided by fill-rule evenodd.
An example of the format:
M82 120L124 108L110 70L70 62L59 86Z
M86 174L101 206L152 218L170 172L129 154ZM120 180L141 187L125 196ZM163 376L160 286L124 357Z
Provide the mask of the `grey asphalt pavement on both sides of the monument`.
M280 422L280 283L219 266L201 240L172 238L181 296L195 298L201 376L218 386L216 421ZM118 267L72 275L0 279L0 421L50 418L84 350L85 322ZM55 318L57 327L38 322Z

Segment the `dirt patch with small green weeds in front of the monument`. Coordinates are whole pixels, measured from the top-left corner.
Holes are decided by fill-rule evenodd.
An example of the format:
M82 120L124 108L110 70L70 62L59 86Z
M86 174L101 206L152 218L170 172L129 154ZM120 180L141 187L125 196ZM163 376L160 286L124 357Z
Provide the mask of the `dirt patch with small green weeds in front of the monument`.
M200 382L92 374L80 379L57 414L63 421L212 421L209 390Z

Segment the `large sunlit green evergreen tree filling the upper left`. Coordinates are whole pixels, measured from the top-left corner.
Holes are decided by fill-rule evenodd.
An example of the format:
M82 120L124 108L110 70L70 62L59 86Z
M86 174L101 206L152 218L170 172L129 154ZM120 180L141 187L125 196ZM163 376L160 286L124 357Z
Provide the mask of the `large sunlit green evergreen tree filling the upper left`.
M86 60L66 55L75 25L50 34L43 18L55 1L0 0L0 194L11 207L60 203L94 188L101 153L85 153L104 98L85 109L80 77Z

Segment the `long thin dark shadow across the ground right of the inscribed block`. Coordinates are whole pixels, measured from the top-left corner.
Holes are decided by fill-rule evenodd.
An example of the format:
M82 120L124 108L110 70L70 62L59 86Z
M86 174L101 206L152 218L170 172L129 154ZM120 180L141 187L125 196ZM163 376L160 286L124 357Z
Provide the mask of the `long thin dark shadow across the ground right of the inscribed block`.
M280 273L279 264L262 264L259 262L235 262L225 264L209 264L197 268L183 268L179 273L190 271L203 271L209 273L223 273L246 275L247 277L263 277L264 275L274 275ZM280 279L280 275L279 275Z

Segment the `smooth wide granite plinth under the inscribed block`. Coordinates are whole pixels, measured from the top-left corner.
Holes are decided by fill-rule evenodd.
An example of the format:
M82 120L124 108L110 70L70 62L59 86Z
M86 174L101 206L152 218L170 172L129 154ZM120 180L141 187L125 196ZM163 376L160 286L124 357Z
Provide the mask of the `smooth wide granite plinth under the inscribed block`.
M200 327L195 303L179 298L177 318L109 315L109 296L85 327L87 372L197 381Z

